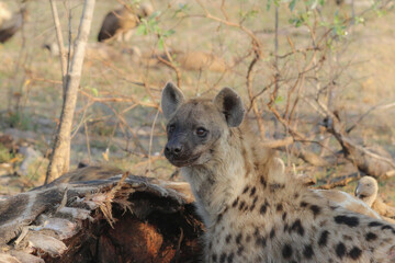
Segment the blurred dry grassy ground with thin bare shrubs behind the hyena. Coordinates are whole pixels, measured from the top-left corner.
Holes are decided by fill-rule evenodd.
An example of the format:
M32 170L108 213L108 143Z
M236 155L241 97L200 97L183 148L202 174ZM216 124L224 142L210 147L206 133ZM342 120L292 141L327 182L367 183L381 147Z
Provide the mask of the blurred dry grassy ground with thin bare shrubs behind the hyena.
M3 2L13 11L22 4ZM67 47L77 35L82 1L56 2ZM257 124L257 141L279 148L290 172L309 174L318 185L334 186L330 180L363 172L356 158L345 158L331 128L394 159L393 1L356 1L356 23L347 1L336 5L328 0L323 7L316 1L315 9L314 1L294 1L293 11L293 1L278 8L271 0L150 1L156 12L129 41L98 45L103 18L120 2L95 3L72 128L71 169L79 162L105 163L133 174L180 180L162 155L159 98L168 80L189 95L214 94L225 85L236 89ZM43 184L61 108L59 58L43 48L56 41L49 2L25 4L29 20L22 31L0 46L0 130L12 137L1 137L1 195ZM354 186L351 182L345 190ZM381 180L380 186L384 199L395 205L394 176Z

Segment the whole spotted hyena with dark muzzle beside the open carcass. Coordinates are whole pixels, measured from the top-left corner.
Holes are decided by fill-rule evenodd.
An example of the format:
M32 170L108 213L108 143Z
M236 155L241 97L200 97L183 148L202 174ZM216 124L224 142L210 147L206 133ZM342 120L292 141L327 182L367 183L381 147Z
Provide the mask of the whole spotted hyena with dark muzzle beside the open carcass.
M242 122L240 98L185 100L168 83L167 159L206 226L204 262L395 262L395 226L354 214L284 176Z

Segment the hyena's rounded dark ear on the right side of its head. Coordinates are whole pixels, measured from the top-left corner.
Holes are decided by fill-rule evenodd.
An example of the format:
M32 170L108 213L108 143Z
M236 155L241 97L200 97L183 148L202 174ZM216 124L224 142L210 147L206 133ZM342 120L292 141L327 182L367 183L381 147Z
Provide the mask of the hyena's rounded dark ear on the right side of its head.
M225 114L229 127L241 124L245 110L240 96L230 88L224 88L214 98L214 104Z

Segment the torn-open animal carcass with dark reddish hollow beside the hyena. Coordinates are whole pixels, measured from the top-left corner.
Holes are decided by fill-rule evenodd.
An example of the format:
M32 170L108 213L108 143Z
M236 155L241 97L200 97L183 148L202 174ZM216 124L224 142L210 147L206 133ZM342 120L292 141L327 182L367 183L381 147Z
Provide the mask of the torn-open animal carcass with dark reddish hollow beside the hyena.
M41 187L0 202L0 248L20 262L199 262L192 202L187 183L125 174Z

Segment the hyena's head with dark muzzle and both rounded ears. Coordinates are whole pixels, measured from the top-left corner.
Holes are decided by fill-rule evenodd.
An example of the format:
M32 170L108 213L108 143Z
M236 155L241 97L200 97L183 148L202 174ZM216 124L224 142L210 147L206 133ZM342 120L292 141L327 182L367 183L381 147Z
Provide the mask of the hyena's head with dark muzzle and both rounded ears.
M224 88L214 100L185 100L173 83L162 91L161 107L168 121L166 158L176 167L204 164L213 158L221 138L244 118L239 95Z

